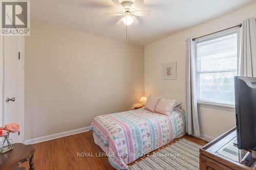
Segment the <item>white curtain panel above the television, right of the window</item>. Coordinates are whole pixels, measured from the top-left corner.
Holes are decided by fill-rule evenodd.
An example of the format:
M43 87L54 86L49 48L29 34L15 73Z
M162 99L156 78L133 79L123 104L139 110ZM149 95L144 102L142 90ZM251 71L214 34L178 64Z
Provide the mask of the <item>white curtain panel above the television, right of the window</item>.
M256 77L256 18L243 21L240 38L238 75Z

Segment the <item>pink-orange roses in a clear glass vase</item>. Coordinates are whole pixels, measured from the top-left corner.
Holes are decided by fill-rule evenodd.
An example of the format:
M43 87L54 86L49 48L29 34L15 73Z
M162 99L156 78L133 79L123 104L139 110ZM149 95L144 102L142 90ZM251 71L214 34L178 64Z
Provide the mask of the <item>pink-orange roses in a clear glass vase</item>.
M0 137L4 137L3 141L0 142L0 153L5 153L13 149L12 139L9 139L10 133L19 131L19 125L11 123L6 124L4 127L0 127Z

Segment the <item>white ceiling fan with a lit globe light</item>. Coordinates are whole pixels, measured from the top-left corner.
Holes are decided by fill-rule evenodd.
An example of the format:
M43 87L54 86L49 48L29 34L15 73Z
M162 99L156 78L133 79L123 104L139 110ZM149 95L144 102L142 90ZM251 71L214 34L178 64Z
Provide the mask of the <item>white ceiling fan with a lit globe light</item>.
M134 7L141 5L144 3L144 0L124 0L119 2L118 0L112 0L112 2L119 7L119 13L105 13L106 15L116 15L122 16L122 18L116 23L119 25L120 23L124 23L126 26L130 26L132 23L137 25L139 20L136 16L148 16L150 15L150 10L137 10Z

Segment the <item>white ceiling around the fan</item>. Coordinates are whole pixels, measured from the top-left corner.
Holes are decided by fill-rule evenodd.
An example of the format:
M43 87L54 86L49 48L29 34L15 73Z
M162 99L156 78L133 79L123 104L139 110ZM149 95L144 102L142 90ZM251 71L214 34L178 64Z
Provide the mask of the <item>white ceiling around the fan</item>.
M122 1L122 0L119 0ZM256 0L144 0L141 10L151 15L137 17L140 23L130 27L134 43L153 42L186 28L218 17ZM31 19L43 20L88 33L115 39L126 39L125 25L116 25L120 16L111 0L33 0Z

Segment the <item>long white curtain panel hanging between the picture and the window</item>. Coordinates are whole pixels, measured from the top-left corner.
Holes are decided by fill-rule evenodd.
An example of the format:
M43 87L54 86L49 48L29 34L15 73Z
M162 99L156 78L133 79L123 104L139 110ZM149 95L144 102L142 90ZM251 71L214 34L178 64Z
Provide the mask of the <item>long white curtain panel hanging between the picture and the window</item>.
M186 99L187 99L187 133L200 136L200 127L197 110L196 92L196 41L192 38L187 39L187 65L186 65Z

